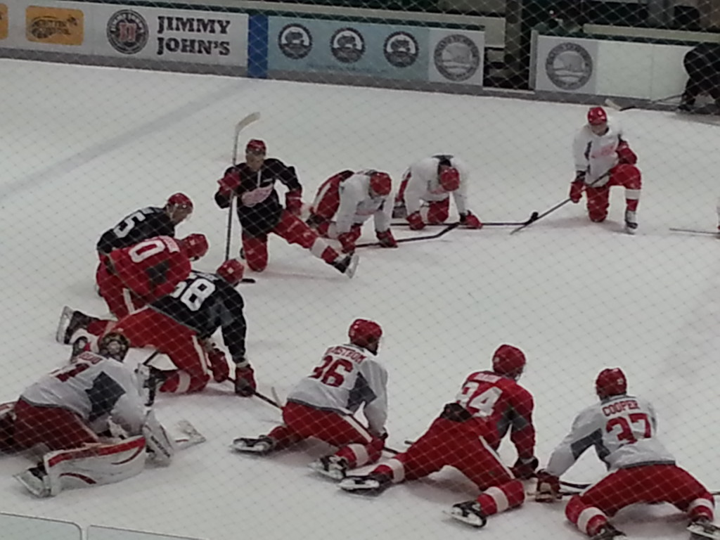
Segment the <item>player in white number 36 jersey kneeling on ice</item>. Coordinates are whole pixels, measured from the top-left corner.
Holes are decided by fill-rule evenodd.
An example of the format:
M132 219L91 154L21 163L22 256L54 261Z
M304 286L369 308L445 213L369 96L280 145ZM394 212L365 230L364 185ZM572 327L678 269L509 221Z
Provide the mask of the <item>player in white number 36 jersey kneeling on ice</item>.
M340 449L310 467L334 480L343 479L348 469L377 462L387 438L387 372L375 358L382 328L357 319L348 335L349 344L328 348L320 365L289 393L283 426L259 438L236 438L233 448L269 454L319 438ZM353 415L362 404L369 428Z

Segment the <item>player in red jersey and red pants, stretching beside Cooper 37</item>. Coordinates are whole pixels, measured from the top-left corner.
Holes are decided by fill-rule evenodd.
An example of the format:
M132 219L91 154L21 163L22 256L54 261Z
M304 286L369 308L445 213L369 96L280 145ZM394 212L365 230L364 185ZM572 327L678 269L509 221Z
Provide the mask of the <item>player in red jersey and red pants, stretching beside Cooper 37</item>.
M452 517L482 527L487 516L520 506L525 490L516 479L534 477L538 465L533 397L517 383L524 367L525 355L519 348L500 346L492 357L492 371L469 374L455 400L445 405L428 431L408 450L366 476L347 477L340 487L377 493L451 465L482 491L477 499L454 505ZM518 451L511 469L495 453L508 429Z

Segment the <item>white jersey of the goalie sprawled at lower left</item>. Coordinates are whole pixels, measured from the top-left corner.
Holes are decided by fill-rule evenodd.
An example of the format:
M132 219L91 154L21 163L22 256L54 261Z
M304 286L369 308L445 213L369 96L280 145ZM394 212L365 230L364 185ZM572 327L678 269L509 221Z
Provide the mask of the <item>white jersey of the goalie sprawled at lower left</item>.
M145 418L135 373L117 360L89 351L42 377L20 399L30 405L71 410L92 426L107 426L112 418L129 435L140 434Z

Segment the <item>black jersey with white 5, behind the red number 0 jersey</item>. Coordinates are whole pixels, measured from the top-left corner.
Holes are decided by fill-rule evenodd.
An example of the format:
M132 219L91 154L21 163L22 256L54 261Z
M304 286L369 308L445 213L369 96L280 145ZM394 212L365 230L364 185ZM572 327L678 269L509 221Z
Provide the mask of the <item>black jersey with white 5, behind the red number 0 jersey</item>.
M129 248L156 236L175 236L175 224L162 208L140 208L103 233L97 251L107 255L114 249Z

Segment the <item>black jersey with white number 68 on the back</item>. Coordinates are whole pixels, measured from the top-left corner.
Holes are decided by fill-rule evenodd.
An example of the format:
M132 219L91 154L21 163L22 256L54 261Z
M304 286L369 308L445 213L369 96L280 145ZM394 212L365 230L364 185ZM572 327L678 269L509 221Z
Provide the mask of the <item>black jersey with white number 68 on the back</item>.
M236 363L245 361L247 330L243 297L216 274L193 270L184 282L150 308L167 315L207 339L222 328L222 340Z

